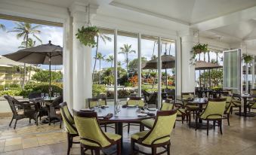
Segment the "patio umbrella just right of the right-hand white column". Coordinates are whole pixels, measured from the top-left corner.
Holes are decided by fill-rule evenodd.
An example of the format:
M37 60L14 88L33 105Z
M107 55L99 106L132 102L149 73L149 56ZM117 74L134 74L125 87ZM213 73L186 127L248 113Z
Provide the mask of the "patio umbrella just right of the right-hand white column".
M195 65L196 70L205 70L205 69L209 70L210 87L211 87L211 71L210 71L210 69L214 69L214 68L222 68L222 66L211 63L211 62L204 62L204 61L197 61L196 65ZM201 87L201 79L200 78L199 78L199 81L200 81L199 83L200 83L200 87Z

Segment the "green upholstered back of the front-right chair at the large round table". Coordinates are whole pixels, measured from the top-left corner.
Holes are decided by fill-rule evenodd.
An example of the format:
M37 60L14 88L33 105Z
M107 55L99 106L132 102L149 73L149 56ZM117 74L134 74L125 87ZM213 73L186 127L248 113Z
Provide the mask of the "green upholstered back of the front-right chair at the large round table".
M142 141L143 144L152 144L152 142L156 140L156 138L161 138L166 135L171 135L171 131L173 129L176 116L177 116L177 113L169 116L159 116L158 120L155 122L156 125L152 129L152 132L150 133L150 135ZM162 142L168 141L169 139L170 137L163 138Z

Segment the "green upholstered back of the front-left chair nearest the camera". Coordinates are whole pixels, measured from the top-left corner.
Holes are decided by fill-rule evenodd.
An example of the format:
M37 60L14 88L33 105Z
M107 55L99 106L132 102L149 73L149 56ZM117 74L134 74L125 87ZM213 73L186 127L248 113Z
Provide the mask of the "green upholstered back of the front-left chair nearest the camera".
M74 116L76 129L80 138L87 138L91 141L97 141L102 147L106 147L110 142L103 135L96 117L78 117Z

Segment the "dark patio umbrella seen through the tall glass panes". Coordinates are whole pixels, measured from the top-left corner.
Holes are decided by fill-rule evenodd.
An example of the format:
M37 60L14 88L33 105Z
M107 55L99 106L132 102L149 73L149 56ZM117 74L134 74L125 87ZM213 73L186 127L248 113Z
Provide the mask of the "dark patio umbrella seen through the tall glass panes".
M165 69L165 74L166 74L166 87L168 85L168 75L167 75L167 69L168 68L175 68L175 57L171 55L162 55L161 56L162 60L162 69ZM143 64L143 69L157 69L157 63L158 63L158 58L152 59L148 61L146 64Z

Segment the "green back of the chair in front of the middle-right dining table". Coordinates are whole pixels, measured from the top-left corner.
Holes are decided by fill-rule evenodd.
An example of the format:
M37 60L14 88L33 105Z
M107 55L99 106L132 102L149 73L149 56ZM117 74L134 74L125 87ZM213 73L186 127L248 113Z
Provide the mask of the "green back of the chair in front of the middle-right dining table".
M206 106L205 111L202 112L201 118L203 118L203 119L222 118L224 111L225 111L225 107L226 107L226 101L224 101L224 102L209 101Z

